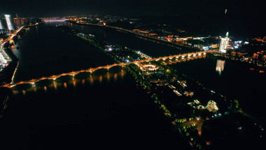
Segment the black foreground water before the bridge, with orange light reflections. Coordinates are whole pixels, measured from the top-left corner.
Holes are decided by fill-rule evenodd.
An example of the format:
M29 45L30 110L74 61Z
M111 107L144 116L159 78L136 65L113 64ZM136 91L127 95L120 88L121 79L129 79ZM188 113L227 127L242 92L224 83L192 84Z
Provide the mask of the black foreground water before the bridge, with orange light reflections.
M14 95L1 149L190 148L125 71L66 85Z

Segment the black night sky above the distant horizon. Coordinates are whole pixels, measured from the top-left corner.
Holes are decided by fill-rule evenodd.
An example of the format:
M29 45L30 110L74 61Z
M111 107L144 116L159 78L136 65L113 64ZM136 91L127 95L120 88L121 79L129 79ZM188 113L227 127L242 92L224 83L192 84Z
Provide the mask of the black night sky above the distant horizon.
M263 0L5 0L0 14L51 17L99 13L102 15L265 15Z

